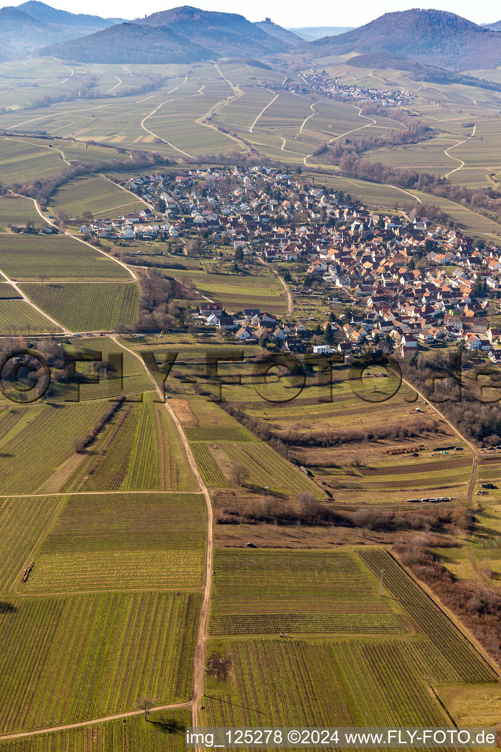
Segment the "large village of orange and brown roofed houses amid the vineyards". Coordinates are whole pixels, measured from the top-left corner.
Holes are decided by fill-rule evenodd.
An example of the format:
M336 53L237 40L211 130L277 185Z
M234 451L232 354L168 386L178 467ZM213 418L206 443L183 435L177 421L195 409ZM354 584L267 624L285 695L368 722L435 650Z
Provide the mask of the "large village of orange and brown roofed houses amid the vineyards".
M218 301L201 302L194 314L205 326L243 343L316 355L377 348L405 358L419 347L460 344L501 362L499 329L490 325L499 313L501 251L451 223L412 218L409 208L370 211L299 171L266 165L186 169L124 185L150 208L89 221L80 227L83 235L146 241L149 247L137 250L142 255L157 253L155 240L186 245L198 238L202 253L216 247L234 253L240 261L234 273L244 273L252 259L279 265L281 274L285 266L294 299L327 300L327 320L315 331L294 316L225 311ZM344 315L333 314L336 305Z

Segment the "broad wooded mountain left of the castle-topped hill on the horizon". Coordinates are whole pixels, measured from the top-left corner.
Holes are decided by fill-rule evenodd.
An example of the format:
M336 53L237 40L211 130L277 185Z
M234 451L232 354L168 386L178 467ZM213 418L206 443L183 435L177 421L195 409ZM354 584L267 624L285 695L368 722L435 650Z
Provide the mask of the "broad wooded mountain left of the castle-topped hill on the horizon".
M277 47L276 37L239 14L183 5L110 26L68 44L44 47L39 53L80 62L165 63L255 57L293 49L283 40Z

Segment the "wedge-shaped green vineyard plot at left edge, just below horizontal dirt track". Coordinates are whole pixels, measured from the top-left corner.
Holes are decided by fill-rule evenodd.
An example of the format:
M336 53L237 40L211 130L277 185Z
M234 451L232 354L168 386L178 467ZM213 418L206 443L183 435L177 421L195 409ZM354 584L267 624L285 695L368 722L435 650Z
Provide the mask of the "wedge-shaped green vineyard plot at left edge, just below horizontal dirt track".
M0 499L0 592L11 587L60 502L60 496Z

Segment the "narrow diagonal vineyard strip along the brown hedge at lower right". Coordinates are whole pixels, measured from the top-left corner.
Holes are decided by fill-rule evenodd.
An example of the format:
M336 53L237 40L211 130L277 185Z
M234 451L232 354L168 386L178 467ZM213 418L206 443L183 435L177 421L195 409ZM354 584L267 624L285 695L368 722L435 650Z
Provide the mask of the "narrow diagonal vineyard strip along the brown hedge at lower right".
M418 631L439 650L456 674L456 681L495 681L493 669L480 653L388 551L370 548L360 550L359 555L376 576L381 569L385 570L385 589L403 606Z

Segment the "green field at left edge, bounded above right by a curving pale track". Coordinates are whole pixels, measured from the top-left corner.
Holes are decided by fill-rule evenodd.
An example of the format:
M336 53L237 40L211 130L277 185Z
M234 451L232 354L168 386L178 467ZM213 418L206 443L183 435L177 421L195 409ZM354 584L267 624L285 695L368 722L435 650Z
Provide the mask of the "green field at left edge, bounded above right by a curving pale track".
M66 235L0 235L0 268L14 280L119 280L128 271Z

